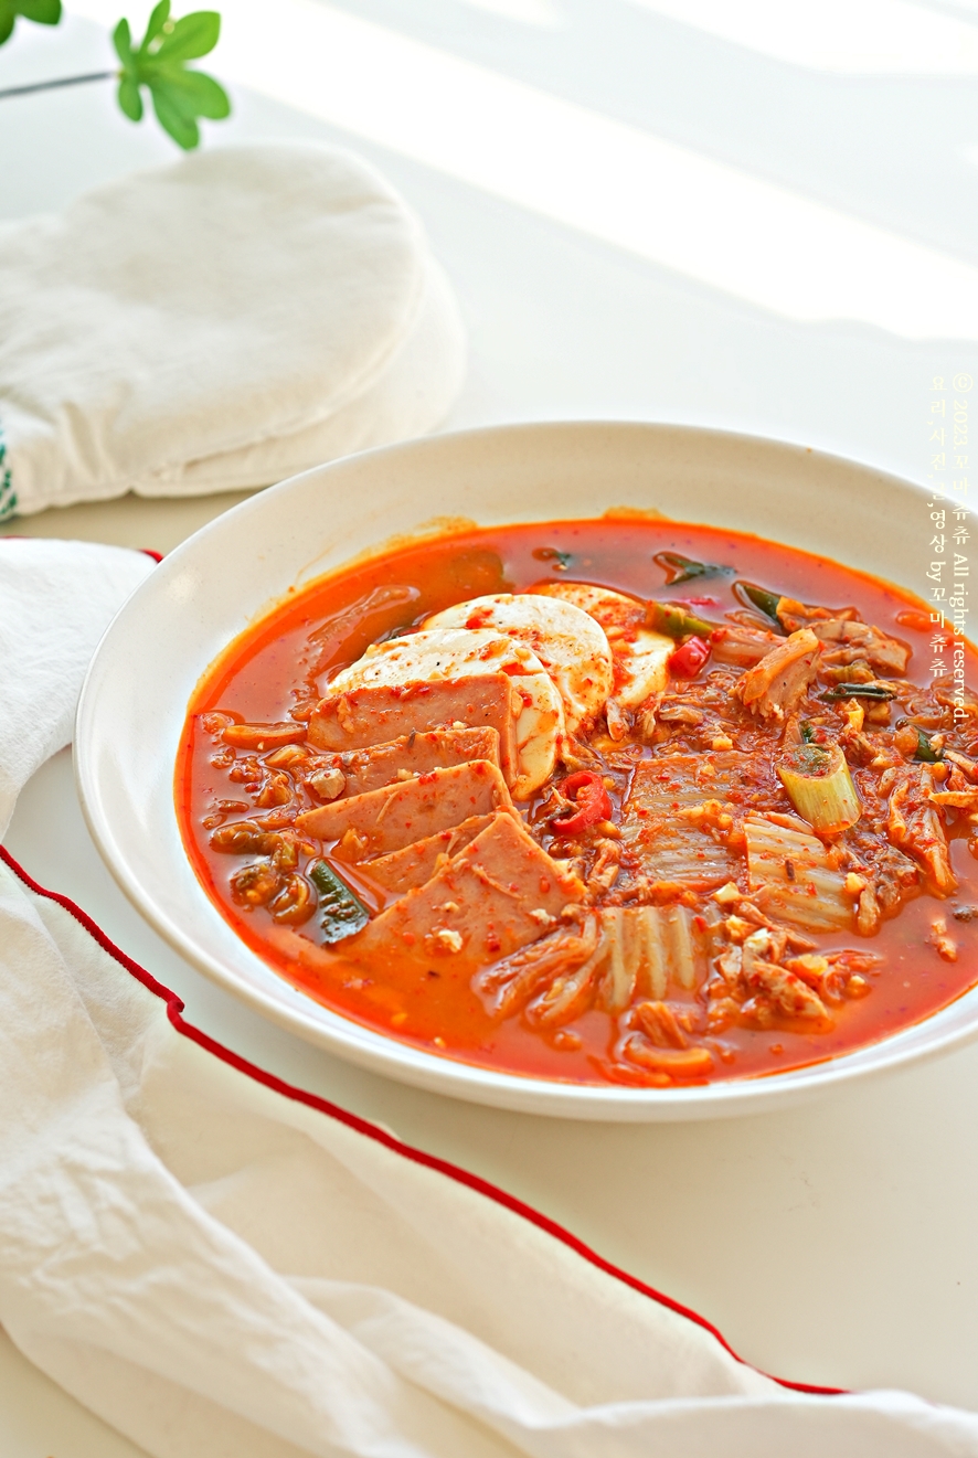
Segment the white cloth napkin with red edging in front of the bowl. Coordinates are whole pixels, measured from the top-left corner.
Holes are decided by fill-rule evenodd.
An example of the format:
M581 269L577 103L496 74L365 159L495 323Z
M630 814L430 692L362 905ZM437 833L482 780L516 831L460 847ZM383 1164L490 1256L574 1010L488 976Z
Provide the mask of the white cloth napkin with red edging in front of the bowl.
M0 828L150 570L0 541ZM0 1321L154 1458L978 1455L978 1414L761 1376L545 1217L242 1064L150 974L0 865Z

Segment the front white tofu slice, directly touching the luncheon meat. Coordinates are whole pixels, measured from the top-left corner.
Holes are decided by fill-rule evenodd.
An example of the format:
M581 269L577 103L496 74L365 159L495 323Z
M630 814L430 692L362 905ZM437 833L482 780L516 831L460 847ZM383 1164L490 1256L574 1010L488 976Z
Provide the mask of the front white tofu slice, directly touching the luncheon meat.
M513 795L526 799L554 770L564 735L564 704L541 660L522 643L494 628L408 633L388 643L373 643L361 659L337 674L329 693L498 672L509 674L522 700L516 716Z

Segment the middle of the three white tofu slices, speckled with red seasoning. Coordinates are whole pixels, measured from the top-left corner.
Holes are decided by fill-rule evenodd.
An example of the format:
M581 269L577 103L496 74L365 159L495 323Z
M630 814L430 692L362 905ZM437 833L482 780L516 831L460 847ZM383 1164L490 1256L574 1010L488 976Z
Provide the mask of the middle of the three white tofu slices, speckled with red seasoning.
M605 707L614 684L605 630L583 608L538 592L471 598L427 618L426 628L494 628L541 660L564 701L567 729Z

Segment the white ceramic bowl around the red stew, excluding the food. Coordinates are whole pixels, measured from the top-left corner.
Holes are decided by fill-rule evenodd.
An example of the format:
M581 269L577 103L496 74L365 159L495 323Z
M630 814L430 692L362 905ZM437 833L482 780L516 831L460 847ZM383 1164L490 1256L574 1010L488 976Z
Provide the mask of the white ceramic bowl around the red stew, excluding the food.
M74 741L89 828L143 916L208 977L302 1038L458 1098L571 1118L705 1118L789 1104L956 1047L978 1035L978 990L857 1053L700 1088L558 1083L436 1057L329 1012L249 951L197 882L173 806L187 704L217 653L290 586L433 518L491 525L654 509L789 542L923 595L926 500L907 481L800 446L644 424L480 430L308 471L178 547L111 624Z

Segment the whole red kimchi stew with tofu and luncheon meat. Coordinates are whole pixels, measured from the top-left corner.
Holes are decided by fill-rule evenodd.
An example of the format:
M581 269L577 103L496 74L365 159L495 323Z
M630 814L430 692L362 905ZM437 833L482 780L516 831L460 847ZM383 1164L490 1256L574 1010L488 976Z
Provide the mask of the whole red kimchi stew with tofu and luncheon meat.
M975 655L899 589L644 518L417 539L189 706L194 868L338 1013L509 1073L802 1067L978 980Z

